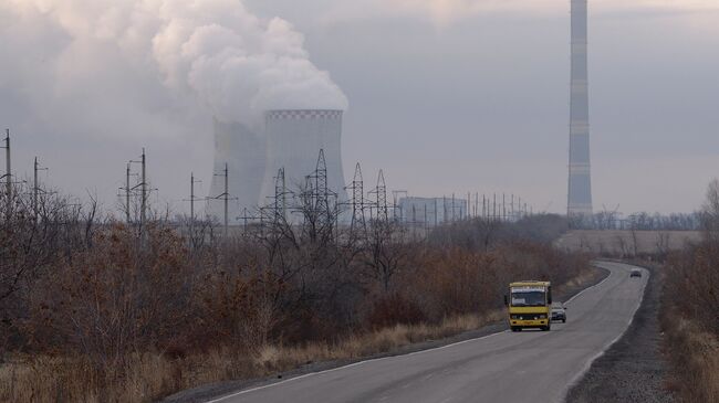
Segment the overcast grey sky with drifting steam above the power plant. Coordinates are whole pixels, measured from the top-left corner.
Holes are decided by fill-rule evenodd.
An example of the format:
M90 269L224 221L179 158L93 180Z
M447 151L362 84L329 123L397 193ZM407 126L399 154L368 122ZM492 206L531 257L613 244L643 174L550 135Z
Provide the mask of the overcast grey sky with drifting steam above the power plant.
M169 53L159 52L143 36L156 32L154 20L137 8L108 11L103 1L87 11L80 0L62 2L74 8L0 0L0 125L12 130L20 176L31 173L38 156L50 168L43 181L79 197L96 192L114 208L126 161L145 147L155 201L185 211L190 172L204 180L199 192L211 181L213 113L252 99L250 119L267 97L310 88L326 95L316 102L348 105L347 177L359 161L368 182L383 169L388 188L413 195L506 192L534 211L566 209L569 1L246 0L236 19L223 13L227 21L217 23L242 32L236 47L259 61L238 74L269 68L291 84L268 86L268 75L258 74L249 89L212 81L211 63L190 71L188 57L192 68L213 59L169 40ZM228 1L190 2L201 9L191 17L173 10L177 1L126 2L213 26L216 14L195 15L205 15L206 4L233 7ZM215 33L208 38L237 42ZM216 52L217 42L197 43L216 59L228 56ZM717 49L717 1L590 1L596 211L699 208L719 176ZM300 78L286 73L296 70ZM226 87L237 89L208 95ZM252 91L270 95L232 98Z

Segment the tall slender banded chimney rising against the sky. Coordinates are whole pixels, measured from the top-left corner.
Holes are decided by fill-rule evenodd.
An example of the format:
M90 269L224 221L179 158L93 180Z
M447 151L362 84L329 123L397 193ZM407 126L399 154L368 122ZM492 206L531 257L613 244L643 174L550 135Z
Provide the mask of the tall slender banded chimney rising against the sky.
M567 214L592 214L587 0L572 0L572 84L570 98Z

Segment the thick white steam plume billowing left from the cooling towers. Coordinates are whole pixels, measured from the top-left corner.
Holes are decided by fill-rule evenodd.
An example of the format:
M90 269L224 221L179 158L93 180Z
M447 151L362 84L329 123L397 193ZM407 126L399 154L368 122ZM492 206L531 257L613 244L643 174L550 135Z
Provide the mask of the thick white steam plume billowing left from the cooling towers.
M301 33L282 19L253 15L240 0L2 0L0 23L7 44L0 51L32 54L28 63L43 64L18 68L8 78L13 85L42 81L66 95L93 75L117 82L154 77L168 94L156 96L150 108L189 94L218 118L249 125L267 109L347 107L330 75L310 62ZM88 92L91 104L103 96Z

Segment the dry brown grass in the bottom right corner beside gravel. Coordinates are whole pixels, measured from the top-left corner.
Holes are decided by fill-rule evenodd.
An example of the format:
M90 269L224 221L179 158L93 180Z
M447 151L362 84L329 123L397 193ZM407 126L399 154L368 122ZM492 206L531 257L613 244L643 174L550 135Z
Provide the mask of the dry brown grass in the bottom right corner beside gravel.
M719 402L719 338L685 318L666 320L665 348L675 367L668 389L681 402Z

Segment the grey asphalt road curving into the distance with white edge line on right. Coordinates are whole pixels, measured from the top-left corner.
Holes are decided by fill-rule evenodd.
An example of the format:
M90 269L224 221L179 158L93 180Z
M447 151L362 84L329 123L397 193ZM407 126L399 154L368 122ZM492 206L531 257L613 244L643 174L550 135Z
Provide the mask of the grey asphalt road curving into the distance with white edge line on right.
M649 273L611 275L575 296L549 332L504 331L406 356L363 361L239 391L211 402L561 402L628 328Z

